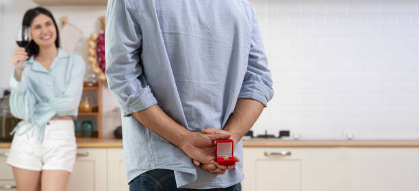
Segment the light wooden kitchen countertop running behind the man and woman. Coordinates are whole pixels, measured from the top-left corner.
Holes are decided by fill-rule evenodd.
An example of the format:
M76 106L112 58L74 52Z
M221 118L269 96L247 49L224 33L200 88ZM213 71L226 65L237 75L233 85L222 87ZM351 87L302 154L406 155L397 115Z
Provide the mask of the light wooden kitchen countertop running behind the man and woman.
M11 143L0 143L0 148L8 148ZM122 147L118 139L97 141L77 141L78 148ZM244 147L419 147L418 141L263 141L246 140Z

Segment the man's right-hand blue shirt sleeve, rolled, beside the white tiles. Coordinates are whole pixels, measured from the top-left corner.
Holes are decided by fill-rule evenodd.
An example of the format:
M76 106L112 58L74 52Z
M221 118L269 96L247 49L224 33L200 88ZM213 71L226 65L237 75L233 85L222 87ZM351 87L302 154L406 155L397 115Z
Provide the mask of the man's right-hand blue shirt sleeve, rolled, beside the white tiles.
M272 76L268 69L268 60L253 9L252 14L253 29L249 61L238 98L257 100L267 106L268 101L273 97Z

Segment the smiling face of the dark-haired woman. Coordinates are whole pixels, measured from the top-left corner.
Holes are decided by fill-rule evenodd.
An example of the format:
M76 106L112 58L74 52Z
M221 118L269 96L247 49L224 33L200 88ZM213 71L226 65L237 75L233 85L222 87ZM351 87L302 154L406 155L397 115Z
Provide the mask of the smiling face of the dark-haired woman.
M32 40L39 47L55 46L57 32L53 20L45 15L38 14L31 23Z

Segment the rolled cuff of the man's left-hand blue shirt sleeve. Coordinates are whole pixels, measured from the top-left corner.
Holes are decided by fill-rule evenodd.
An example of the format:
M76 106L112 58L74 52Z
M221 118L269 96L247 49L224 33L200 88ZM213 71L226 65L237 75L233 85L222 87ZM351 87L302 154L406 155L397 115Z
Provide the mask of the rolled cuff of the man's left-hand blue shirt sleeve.
M151 93L150 87L144 87L138 95L129 96L125 102L118 100L118 104L123 116L129 117L131 113L142 111L157 104L157 99Z

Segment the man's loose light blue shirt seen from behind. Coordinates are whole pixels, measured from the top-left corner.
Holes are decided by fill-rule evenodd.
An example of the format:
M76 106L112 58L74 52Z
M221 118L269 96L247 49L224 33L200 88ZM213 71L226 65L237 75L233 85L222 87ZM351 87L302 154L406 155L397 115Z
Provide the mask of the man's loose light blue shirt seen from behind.
M107 3L106 76L123 115L127 179L155 168L175 171L178 188L232 186L242 162L209 173L131 113L158 104L188 130L223 129L238 98L266 106L272 79L255 12L245 0ZM235 155L242 158L242 143Z

